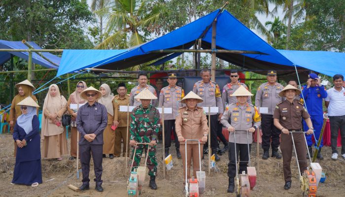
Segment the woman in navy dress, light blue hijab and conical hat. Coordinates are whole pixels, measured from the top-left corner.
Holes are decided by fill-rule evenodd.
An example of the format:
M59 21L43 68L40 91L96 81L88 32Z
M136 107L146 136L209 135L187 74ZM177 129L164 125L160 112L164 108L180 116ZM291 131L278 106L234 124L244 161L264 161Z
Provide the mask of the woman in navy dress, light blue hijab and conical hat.
M27 97L17 103L22 111L14 125L13 139L18 146L12 184L31 185L42 183L39 121L34 99Z

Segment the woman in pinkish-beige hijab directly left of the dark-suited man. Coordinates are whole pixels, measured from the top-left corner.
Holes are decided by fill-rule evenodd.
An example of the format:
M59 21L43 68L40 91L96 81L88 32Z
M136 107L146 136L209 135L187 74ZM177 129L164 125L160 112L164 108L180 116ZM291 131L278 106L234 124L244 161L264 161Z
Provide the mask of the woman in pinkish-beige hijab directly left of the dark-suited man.
M73 160L77 157L77 125L75 123L75 119L77 118L77 111L78 108L86 103L86 100L80 98L79 94L83 92L87 88L86 83L84 81L79 81L77 83L77 87L75 91L70 94L69 100L67 101L67 110L69 114L72 115L72 120L70 123L70 160ZM71 108L71 104L73 107ZM75 107L76 106L76 107Z

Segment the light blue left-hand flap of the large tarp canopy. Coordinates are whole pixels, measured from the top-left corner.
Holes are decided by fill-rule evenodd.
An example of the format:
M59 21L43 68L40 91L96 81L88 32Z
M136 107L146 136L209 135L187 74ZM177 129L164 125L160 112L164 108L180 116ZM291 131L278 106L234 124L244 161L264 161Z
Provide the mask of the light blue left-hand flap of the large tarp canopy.
M57 76L75 70L102 66L126 51L128 50L64 50Z

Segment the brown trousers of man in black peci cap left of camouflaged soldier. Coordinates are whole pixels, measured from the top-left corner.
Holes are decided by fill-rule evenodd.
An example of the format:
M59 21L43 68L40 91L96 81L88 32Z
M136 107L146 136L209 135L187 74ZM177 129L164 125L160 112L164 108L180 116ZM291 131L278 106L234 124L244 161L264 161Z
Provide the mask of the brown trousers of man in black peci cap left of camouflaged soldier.
M129 128L128 128L129 129ZM115 150L114 150L114 156L115 157L120 157L121 156L121 139L123 141L123 148L122 148L122 156L125 157L126 155L126 144L128 144L128 149L127 149L127 157L129 157L130 152L129 152L129 138L130 138L130 133L128 130L128 138L126 137L127 135L127 127L118 127L115 130Z

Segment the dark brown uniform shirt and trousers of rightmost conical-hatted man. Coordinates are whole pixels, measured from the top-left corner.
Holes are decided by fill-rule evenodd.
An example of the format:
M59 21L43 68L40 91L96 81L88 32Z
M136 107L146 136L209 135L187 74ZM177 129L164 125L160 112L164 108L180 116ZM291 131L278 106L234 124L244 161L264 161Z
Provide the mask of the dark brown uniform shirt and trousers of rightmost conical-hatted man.
M289 131L303 131L301 119L303 118L306 120L310 118L310 115L304 108L303 104L298 100L293 100L292 103L288 100L285 100L276 105L273 118L278 119L281 126ZM300 132L293 133L301 173L303 173L308 166L306 159L307 147L303 135L304 133ZM283 156L284 179L285 181L291 181L290 163L293 149L291 133L281 133L280 139L280 149Z

